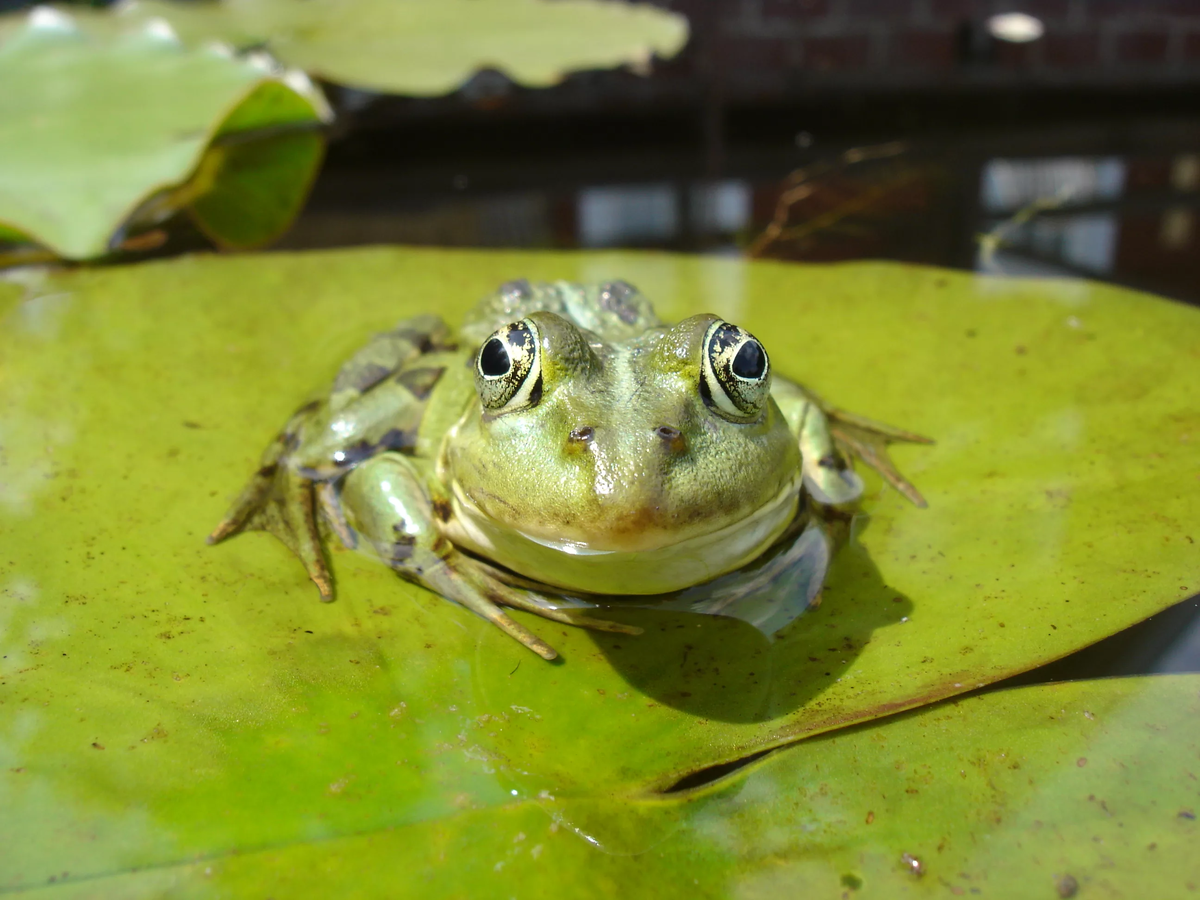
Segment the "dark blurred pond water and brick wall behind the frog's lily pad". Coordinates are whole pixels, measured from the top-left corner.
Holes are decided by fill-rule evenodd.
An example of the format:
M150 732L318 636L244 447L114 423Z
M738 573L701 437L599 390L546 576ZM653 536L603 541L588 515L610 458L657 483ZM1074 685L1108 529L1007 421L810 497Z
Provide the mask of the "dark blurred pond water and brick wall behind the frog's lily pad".
M691 36L641 71L335 91L278 246L887 257L1200 300L1200 2L658 5Z

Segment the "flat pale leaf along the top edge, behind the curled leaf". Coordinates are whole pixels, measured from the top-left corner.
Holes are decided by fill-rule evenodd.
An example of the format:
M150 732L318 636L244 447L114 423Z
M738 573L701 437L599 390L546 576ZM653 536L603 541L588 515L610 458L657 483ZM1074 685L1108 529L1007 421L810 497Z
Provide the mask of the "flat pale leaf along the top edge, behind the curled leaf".
M575 70L644 66L688 40L683 16L613 0L137 0L122 13L161 16L192 40L266 43L338 84L414 95L445 94L485 67L542 88Z

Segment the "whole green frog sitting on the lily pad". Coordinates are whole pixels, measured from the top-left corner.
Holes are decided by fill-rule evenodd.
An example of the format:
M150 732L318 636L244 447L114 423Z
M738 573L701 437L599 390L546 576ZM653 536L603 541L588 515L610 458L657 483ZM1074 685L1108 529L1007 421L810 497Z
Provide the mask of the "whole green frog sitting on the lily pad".
M822 521L863 490L853 457L924 505L893 440L925 439L780 378L716 316L666 325L625 282L515 281L457 335L420 316L372 338L209 541L275 534L322 600L323 540L368 546L546 659L502 607L636 632L594 614L622 598L774 630L820 596Z

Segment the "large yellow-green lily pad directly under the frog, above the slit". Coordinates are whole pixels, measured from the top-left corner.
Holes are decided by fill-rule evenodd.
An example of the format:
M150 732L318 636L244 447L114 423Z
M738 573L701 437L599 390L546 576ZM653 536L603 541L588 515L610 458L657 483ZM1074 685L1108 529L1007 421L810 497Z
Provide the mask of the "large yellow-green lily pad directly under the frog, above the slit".
M625 277L665 316L744 324L786 374L937 438L896 450L930 508L872 482L824 604L774 643L712 617L630 611L647 634L618 640L522 617L558 665L370 557L336 553L322 605L268 535L204 546L275 428L368 334L452 320L520 276ZM653 797L1196 590L1200 313L1118 288L413 250L0 287L0 888L542 792ZM450 846L458 826L438 828Z

